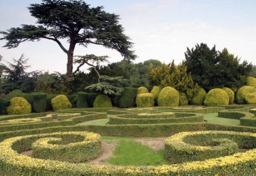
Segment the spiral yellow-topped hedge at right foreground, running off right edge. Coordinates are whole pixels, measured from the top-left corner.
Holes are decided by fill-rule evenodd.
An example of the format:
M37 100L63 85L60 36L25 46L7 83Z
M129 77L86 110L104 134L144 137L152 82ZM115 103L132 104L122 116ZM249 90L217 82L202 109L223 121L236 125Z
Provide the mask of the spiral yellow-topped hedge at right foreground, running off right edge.
M229 131L181 132L164 141L172 162L202 161L234 154L238 148L256 148L256 134ZM255 157L256 160L256 157Z

